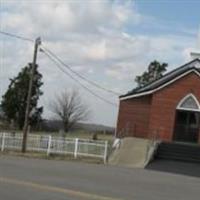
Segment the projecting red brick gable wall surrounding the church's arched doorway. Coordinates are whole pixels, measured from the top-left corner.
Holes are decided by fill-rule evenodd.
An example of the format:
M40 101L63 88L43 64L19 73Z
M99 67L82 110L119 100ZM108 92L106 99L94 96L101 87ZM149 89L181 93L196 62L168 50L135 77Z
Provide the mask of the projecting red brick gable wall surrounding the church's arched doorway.
M153 94L150 134L157 133L167 141L173 139L176 107L189 93L194 94L200 102L200 77L195 73L190 73Z

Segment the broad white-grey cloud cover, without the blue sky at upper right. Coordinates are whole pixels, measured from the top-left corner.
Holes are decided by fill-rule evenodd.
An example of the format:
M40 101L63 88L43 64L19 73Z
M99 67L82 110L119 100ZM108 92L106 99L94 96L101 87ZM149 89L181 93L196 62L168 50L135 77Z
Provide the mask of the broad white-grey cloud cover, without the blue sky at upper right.
M153 59L180 63L188 52L185 49L193 42L189 36L129 33L129 25L138 27L147 19L137 11L132 0L85 0L84 3L78 0L4 1L2 8L1 29L31 38L41 36L43 44L74 70L102 86L121 92L134 86L134 76L144 71ZM8 84L5 79L8 80L20 70L20 66L32 60L32 51L32 44L0 36L3 69L0 95ZM38 62L45 83L42 104L63 88L78 86L44 54L39 53ZM117 98L95 91L117 102ZM117 109L90 95L88 98L88 95L83 92L95 113L92 121L114 125Z

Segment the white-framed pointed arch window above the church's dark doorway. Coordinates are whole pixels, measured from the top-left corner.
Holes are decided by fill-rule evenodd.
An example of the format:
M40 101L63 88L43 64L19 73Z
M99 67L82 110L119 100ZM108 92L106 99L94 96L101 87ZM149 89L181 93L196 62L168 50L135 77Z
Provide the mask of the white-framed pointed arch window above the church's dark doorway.
M193 94L185 96L178 104L177 109L200 111L200 105Z

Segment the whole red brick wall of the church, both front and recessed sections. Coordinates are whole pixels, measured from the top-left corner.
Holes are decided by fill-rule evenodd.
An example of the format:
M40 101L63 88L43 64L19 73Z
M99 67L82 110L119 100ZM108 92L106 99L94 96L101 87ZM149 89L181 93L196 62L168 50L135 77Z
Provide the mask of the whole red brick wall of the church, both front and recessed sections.
M171 141L176 107L189 93L200 102L200 77L190 73L153 95L120 101L117 135L153 137ZM126 135L124 135L126 133Z

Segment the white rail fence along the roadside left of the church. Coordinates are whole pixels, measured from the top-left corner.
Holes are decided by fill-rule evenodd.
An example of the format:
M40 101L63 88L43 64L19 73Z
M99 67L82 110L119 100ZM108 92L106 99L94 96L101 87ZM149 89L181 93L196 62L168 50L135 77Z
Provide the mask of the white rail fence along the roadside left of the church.
M0 133L0 149L21 150L22 134ZM106 163L108 141L86 140L80 138L62 138L51 135L28 135L27 150L50 154L71 154L78 156L102 158Z

